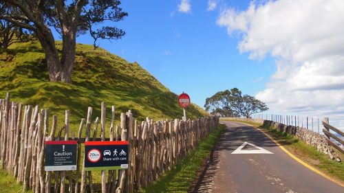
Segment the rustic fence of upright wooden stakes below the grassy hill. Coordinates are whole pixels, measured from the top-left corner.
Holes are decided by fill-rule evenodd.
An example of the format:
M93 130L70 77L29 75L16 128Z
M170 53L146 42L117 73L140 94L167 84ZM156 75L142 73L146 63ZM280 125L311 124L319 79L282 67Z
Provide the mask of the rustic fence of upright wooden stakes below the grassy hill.
M48 109L10 102L8 93L0 100L1 167L17 177L17 182L23 183L23 190L31 189L35 193L94 192L92 172L85 171L81 162L80 144L98 140L129 141L129 169L102 171L101 190L103 193L136 192L171 170L219 122L219 117L158 122L147 117L139 124L128 111L120 113L120 124L115 126L115 106L111 106L110 124L105 122L105 107L102 102L100 119L94 119L93 108L88 108L87 118L80 120L76 137L74 130L69 128L69 111L65 111L62 128L57 128L57 115L52 115L50 127ZM105 137L105 130L109 131L109 137ZM96 137L97 133L100 138ZM76 171L45 172L45 141L74 139L78 141Z

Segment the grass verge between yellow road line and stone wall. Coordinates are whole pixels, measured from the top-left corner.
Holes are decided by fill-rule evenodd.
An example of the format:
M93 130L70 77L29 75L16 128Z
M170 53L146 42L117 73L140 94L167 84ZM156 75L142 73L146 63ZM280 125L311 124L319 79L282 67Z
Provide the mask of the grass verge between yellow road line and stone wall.
M239 122L239 121L235 121ZM316 150L316 148L305 144L305 142L297 139L293 135L284 133L281 130L269 126L261 126L261 124L255 124L252 122L243 122L253 126L257 126L264 132L268 133L273 139L287 148L293 155L297 156L305 163L308 163L310 166L328 174L331 177L334 177L342 182L344 182L344 164L338 163L337 161L331 160L323 153ZM338 152L340 155L341 153ZM343 157L343 156L342 156Z

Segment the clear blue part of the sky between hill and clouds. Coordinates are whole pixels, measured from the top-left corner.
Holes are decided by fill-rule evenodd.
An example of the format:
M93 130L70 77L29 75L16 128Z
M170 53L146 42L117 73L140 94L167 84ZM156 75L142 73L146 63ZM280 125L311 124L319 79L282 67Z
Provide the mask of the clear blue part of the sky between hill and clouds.
M255 95L274 72L269 60L254 61L240 54L237 36L216 24L219 11L207 11L207 1L193 1L190 12L178 11L180 1L122 1L129 13L116 23L127 33L100 47L129 62L138 62L173 93L188 93L203 107L217 91L237 87ZM228 1L245 10L250 1ZM87 36L78 43L92 44Z

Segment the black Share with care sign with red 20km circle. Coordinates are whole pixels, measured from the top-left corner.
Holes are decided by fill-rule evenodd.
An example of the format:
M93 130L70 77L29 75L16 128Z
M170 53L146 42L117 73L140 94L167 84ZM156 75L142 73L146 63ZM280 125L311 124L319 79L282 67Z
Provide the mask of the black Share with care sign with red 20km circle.
M85 141L85 170L128 169L128 141Z

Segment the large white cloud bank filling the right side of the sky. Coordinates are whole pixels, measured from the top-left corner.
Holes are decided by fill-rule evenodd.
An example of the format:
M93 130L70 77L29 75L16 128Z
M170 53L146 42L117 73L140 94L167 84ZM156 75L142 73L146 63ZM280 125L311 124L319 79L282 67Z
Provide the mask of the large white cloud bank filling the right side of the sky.
M271 111L330 117L344 126L344 1L277 0L226 9L217 24L239 34L240 52L276 59L256 97Z

